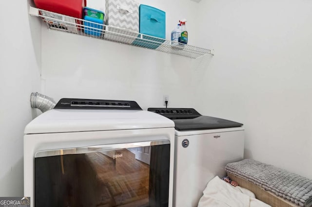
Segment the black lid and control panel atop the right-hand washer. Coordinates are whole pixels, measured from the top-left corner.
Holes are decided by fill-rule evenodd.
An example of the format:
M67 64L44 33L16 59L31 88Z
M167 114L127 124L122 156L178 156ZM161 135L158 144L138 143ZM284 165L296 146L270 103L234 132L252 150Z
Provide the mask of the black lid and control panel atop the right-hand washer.
M242 126L242 123L215 117L202 116L194 108L148 108L175 122L178 131L218 129Z

